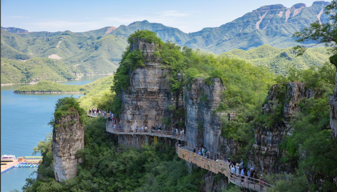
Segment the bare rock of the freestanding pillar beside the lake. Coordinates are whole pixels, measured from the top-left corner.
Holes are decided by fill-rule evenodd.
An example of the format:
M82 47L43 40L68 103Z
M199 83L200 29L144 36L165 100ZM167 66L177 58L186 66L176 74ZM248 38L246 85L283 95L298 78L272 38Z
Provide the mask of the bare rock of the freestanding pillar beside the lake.
M83 125L78 111L73 108L69 111L71 114L62 116L53 130L53 169L59 182L75 177L77 164L82 162L76 152L84 147Z

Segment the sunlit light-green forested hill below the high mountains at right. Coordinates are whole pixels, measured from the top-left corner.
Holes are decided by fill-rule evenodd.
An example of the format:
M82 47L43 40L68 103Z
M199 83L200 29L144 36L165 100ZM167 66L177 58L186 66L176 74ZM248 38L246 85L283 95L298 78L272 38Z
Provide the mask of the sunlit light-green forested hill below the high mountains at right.
M310 66L320 67L325 62L329 62L331 55L327 54L327 48L319 47L308 49L301 57L297 57L296 51L291 47L277 49L270 45L262 45L257 48L245 51L233 49L220 55L239 58L251 62L254 65L270 67L276 74L285 74L287 67L295 66L297 69L307 69Z

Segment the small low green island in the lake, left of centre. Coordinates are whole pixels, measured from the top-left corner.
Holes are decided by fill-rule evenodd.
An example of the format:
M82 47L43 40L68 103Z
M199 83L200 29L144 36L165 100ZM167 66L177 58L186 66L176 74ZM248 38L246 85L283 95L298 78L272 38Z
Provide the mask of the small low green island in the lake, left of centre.
M13 93L83 93L87 90L84 85L63 85L50 81L40 81L34 85L22 86Z

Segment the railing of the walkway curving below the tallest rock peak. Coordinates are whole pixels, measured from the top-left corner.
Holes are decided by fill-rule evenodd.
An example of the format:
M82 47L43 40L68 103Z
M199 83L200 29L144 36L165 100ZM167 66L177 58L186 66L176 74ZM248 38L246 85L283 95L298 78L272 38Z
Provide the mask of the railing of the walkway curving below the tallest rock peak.
M117 125L116 125L117 126ZM112 123L109 123L108 121L105 124L106 131L109 133L114 133L114 134L128 134L128 135L151 135L151 136L158 136L158 137L169 137L172 139L180 139L182 141L186 141L186 135L185 134L180 134L180 133L175 133L172 131L157 131L157 130L144 130L140 131L139 129L118 129L118 126L114 129L112 126Z

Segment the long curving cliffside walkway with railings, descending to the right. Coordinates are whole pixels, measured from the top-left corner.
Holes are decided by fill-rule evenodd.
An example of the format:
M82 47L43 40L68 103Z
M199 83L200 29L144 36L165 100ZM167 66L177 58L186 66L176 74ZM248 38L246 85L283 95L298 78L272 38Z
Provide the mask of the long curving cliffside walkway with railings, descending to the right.
M247 188L250 190L254 190L257 192L264 192L267 191L271 185L267 183L262 183L258 179L250 178L250 181L245 181L245 179L241 179L240 175L236 175L235 173L231 173L228 164L223 161L215 161L212 159L208 159L204 156L198 155L196 153L193 153L192 151L187 150L187 142L186 142L186 135L180 135L174 132L170 131L153 131L151 129L148 129L147 132L140 132L139 130L136 132L135 130L124 130L124 129L113 129L112 123L108 123L108 121L105 124L106 131L109 133L114 134L126 134L126 135L151 135L151 136L158 136L158 137L169 137L172 139L180 139L182 140L182 144L180 147L178 147L178 142L176 143L176 152L178 156L188 162L192 162L196 164L197 166L206 169L208 171L211 171L215 174L221 173L224 174L228 178L228 183L231 182L237 186Z

